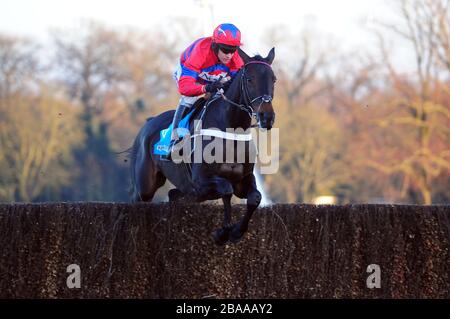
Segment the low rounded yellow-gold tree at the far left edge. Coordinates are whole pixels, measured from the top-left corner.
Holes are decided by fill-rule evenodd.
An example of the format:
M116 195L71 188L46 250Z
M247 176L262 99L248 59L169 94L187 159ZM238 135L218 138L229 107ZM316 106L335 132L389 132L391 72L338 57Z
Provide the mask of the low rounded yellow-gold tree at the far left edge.
M1 112L7 124L0 127L0 198L31 201L44 188L67 186L74 177L71 152L82 142L82 130L73 106L49 92L40 87L36 97L16 95L14 109Z

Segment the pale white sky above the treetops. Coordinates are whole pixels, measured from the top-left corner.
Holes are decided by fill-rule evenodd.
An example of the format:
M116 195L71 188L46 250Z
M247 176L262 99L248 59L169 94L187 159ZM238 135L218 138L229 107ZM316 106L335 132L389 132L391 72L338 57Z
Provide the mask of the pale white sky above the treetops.
M270 25L286 24L299 30L305 23L339 37L349 45L367 41L361 21L383 14L385 0L1 0L0 32L45 38L51 27L76 27L81 19L95 19L111 26L151 28L169 17L204 21L210 35L221 22L236 24L243 41L259 50L262 31ZM212 15L202 3L213 6ZM211 19L211 16L213 19ZM211 21L214 20L214 21ZM188 42L191 39L188 40Z

